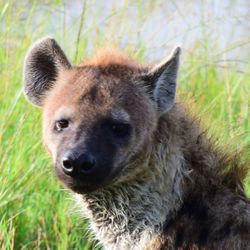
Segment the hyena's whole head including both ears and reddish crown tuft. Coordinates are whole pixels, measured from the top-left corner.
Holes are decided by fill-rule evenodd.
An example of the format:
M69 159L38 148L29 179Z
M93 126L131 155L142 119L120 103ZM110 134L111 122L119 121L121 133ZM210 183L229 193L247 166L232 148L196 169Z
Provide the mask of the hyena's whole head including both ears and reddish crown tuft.
M51 38L29 50L24 91L43 109L44 143L67 187L93 192L142 171L158 120L174 104L179 53L154 67L115 53L76 67Z

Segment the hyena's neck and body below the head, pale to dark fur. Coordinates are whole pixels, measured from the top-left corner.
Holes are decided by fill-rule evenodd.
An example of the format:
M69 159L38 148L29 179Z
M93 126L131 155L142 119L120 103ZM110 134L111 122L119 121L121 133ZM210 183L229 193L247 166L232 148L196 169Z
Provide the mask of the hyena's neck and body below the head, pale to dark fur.
M249 249L250 203L242 181L228 179L245 166L235 168L236 156L216 149L198 125L176 104L142 157L144 175L77 195L105 249Z

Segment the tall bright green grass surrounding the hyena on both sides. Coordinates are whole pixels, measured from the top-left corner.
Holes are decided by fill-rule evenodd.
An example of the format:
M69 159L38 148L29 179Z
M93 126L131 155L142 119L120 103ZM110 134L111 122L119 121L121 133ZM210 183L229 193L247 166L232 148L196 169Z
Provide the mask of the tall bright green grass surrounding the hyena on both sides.
M127 29L126 10L133 3L133 18L140 26L152 8L161 8L161 1L155 1L155 5L154 1L147 4L123 1L122 5L112 5L102 18L97 1L84 1L79 15L68 20L64 1L49 2L53 1L0 0L2 250L93 248L84 231L86 222L75 211L70 194L53 176L41 141L41 111L29 105L22 93L22 64L27 49L36 39L49 34L59 41L74 63L110 42L143 62L148 59L149 46L140 30ZM198 29L203 36L192 45L183 44L180 98L196 107L209 132L220 138L222 145L230 145L231 150L248 147L250 50L245 46L250 43L250 34L221 48L218 40L210 39L202 20ZM131 32L139 34L136 42L124 39ZM224 60L234 50L244 54L245 59L234 56ZM154 54L153 48L150 54ZM249 149L243 157L248 154ZM250 194L249 182L246 192Z

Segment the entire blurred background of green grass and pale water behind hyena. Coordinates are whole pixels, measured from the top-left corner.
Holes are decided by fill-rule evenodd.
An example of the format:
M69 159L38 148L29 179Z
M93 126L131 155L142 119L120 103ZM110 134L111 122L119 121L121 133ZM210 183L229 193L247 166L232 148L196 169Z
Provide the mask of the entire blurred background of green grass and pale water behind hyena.
M248 0L0 0L0 249L98 249L53 175L41 110L22 93L23 60L34 41L54 37L74 64L106 45L150 63L181 44L179 100L222 147L246 159L249 13Z

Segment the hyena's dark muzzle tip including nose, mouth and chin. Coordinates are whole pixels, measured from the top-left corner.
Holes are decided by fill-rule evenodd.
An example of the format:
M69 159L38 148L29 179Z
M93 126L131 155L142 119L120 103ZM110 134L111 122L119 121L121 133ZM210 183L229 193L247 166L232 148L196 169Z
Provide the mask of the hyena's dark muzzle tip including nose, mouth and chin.
M58 155L55 170L68 188L84 194L108 185L114 167L111 157L77 148Z

